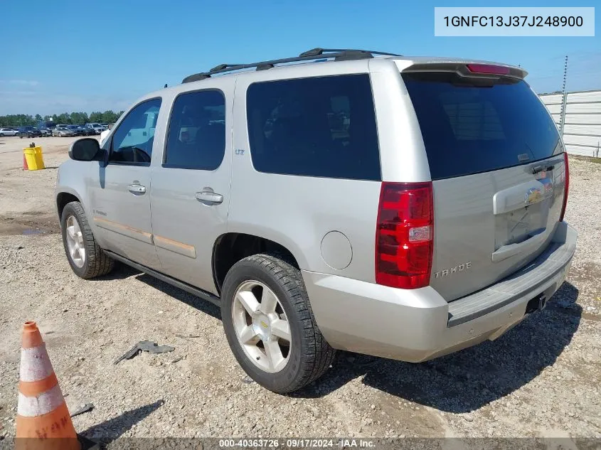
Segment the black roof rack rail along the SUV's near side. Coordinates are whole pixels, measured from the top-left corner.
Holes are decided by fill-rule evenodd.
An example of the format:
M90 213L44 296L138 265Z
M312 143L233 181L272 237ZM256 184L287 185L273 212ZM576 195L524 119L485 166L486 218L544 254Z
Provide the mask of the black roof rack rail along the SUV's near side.
M336 61L345 61L345 60L360 60L360 59L368 59L373 58L373 55L387 55L387 56L400 56L396 53L385 53L385 52L377 52L371 50L355 50L350 48L312 48L311 50L307 50L306 52L301 53L298 56L294 56L292 58L282 58L279 60L270 60L270 61L260 61L258 63L250 63L250 64L220 64L216 65L214 68L209 70L208 72L195 73L193 75L188 75L181 80L182 83L185 82L193 82L198 80L204 80L211 75L217 75L218 73L224 72L232 72L233 70L242 70L242 69L250 69L256 68L256 70L267 70L275 67L276 64L286 64L286 63L297 63L299 61L309 61L309 60L317 60L324 58L333 58Z

